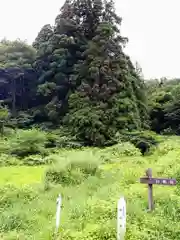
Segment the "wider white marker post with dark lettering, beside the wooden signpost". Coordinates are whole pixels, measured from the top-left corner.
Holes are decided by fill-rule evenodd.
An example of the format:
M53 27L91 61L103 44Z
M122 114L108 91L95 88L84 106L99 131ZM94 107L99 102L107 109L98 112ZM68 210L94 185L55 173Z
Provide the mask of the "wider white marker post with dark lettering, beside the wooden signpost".
M124 197L118 200L117 206L117 240L123 240L126 233L126 201Z

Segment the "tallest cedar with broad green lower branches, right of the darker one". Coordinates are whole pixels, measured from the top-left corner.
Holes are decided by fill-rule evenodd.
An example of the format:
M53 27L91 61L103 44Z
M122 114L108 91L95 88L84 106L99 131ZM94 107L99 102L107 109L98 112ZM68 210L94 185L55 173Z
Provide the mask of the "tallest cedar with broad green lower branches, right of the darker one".
M64 122L92 145L112 142L119 131L143 128L147 119L144 82L123 52L127 38L120 35L121 18L113 1L66 5L74 8L86 49L84 60L74 68L79 87L70 96Z

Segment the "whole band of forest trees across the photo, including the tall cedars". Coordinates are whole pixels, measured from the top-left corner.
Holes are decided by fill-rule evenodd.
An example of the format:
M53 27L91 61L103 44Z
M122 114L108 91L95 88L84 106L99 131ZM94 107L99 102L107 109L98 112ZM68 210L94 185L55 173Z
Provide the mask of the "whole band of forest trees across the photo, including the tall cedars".
M32 46L0 42L4 126L63 129L86 145L133 131L179 134L180 82L145 80L124 53L122 19L111 0L67 0Z

